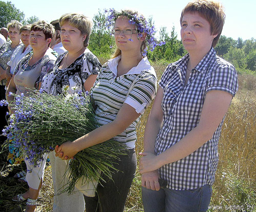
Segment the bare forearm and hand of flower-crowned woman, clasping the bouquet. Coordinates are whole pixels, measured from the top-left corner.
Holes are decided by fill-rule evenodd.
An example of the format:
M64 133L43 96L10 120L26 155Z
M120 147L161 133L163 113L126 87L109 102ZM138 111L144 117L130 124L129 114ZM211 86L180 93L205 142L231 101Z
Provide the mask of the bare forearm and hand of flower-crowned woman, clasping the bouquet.
M61 157L62 160L67 160L82 149L107 141L122 133L122 131L130 126L139 116L140 114L138 114L133 107L123 103L114 121L100 126L73 142L66 142L60 146L56 146L56 156Z

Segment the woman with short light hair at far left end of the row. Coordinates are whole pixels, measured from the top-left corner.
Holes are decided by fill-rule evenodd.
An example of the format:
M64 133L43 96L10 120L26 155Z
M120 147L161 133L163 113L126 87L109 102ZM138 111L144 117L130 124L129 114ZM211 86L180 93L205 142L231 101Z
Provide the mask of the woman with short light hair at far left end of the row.
M8 23L7 29L9 30L10 41L4 43L0 48L0 100L5 99L7 63L10 61L13 51L22 43L22 41L20 41L20 28L22 28L22 23L16 20L12 20L10 23ZM8 112L6 106L0 108L1 132L7 125L6 112ZM0 136L0 139L1 142L3 142L5 137Z

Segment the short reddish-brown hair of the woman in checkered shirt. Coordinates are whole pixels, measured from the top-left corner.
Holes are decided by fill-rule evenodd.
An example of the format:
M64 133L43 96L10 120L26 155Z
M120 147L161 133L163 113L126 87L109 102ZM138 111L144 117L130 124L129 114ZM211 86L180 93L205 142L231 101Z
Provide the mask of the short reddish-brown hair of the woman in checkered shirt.
M225 22L224 8L219 2L208 0L196 0L190 2L181 12L180 23L185 13L198 12L201 17L205 18L210 23L211 35L217 35L212 41L212 47L215 47L221 36L223 25Z

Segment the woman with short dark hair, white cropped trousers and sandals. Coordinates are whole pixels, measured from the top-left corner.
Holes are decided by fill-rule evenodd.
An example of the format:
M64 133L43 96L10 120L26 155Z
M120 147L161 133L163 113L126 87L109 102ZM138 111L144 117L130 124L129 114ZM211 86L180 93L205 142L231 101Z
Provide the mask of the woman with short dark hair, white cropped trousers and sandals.
M7 93L24 93L24 95L29 96L30 89L40 88L42 77L53 67L56 60L56 52L49 48L53 34L54 28L52 24L45 21L37 21L32 24L30 45L33 51L18 63ZM7 95L7 100L13 101L14 97ZM9 111L13 113L11 107ZM35 210L36 199L44 176L46 159L47 155L45 155L45 160L38 167L33 167L25 159L27 170L30 170L27 171L26 175L29 191L15 196L13 201L25 201L27 199L26 212Z

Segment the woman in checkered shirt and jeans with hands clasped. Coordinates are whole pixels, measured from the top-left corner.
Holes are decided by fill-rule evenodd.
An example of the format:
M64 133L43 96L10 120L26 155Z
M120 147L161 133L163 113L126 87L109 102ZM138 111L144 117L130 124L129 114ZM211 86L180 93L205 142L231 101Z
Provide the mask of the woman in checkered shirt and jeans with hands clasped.
M236 70L213 48L224 19L220 3L207 0L181 13L188 54L165 69L145 128L139 167L145 212L208 208L221 126L238 90Z

